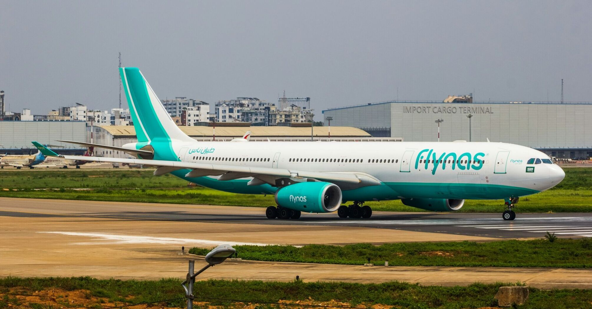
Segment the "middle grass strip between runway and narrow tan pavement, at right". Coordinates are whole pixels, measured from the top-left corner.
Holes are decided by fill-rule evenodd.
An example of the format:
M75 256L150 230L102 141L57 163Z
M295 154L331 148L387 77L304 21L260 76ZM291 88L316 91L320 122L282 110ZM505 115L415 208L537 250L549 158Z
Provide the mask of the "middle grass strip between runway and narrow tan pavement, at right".
M592 267L592 239L501 240L497 242L369 243L332 246L234 246L246 260L273 262L362 265L453 267ZM206 255L210 249L191 248L189 253Z

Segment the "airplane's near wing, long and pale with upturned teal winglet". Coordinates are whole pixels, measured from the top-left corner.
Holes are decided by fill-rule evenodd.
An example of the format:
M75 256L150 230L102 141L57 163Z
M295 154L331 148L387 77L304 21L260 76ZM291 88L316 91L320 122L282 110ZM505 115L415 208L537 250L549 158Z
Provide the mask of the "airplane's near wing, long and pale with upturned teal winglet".
M252 182L252 185L271 184L282 178L291 179L315 179L318 181L332 182L336 185L343 185L348 188L356 188L360 186L379 185L380 181L373 176L362 172L313 172L308 170L295 169L278 169L278 168L260 168L255 166L234 166L215 163L194 163L194 162L180 162L169 160L146 160L146 159L124 159L114 157L89 157L89 156L66 156L58 155L43 145L37 143L33 144L43 153L44 156L62 157L69 160L95 161L95 162L112 162L112 163L127 163L127 164L141 164L156 166L154 172L155 176L164 175L179 169L191 169L186 174L188 177L202 177L202 176L220 176L221 181L229 181L232 179L253 177L258 181Z

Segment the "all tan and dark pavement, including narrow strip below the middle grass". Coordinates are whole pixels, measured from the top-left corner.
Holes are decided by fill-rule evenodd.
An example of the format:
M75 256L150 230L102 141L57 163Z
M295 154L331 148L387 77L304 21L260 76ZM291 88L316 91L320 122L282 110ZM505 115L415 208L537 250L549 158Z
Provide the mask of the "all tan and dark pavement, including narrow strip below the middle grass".
M263 208L0 198L0 276L182 278L181 246L347 244L359 242L491 241L592 232L590 214L375 213L371 220L303 214L268 220ZM567 232L566 232L567 231ZM198 261L198 263L202 263ZM540 288L592 288L590 269L363 267L274 262L225 262L201 276L288 281L392 280L433 285L527 282Z

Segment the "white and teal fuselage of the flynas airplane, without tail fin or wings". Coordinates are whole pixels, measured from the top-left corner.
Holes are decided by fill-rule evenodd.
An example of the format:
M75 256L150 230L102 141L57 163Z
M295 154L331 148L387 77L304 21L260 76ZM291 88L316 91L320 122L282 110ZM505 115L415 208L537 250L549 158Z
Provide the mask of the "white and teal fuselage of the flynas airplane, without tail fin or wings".
M172 143L177 160L237 166L363 172L381 185L342 188L344 201L401 198L502 199L535 194L555 186L564 172L552 163L527 164L549 157L529 147L490 142L195 142ZM170 154L172 156L172 154ZM167 159L173 159L168 157ZM189 178L221 191L274 194L271 185L249 186L252 178L218 181Z

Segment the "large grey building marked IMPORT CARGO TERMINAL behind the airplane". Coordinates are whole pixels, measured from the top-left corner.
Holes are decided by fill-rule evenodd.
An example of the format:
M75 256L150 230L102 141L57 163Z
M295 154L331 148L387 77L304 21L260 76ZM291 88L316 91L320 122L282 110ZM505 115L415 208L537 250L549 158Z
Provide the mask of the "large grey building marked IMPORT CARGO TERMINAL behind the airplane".
M331 119L331 125L361 128L375 137L437 141L439 124L440 141L489 139L532 147L558 158L592 157L592 102L445 101L330 108L323 111L324 125Z

